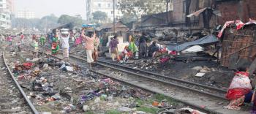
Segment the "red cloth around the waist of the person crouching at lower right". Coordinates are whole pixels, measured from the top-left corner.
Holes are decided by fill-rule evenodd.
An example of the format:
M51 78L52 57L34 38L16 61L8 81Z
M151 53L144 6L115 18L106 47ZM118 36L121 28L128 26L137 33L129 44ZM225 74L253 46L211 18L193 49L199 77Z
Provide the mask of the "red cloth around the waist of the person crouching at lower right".
M233 88L229 89L226 94L226 98L229 100L238 99L245 94L248 94L251 89L249 88Z

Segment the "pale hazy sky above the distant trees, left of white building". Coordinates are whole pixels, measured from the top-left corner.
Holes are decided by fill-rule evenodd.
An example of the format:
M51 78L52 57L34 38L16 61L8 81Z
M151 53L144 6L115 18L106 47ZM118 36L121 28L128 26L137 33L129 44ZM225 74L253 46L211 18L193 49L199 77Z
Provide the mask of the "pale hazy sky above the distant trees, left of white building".
M54 14L60 16L82 15L86 16L86 0L15 0L15 12L19 9L34 11L37 18Z

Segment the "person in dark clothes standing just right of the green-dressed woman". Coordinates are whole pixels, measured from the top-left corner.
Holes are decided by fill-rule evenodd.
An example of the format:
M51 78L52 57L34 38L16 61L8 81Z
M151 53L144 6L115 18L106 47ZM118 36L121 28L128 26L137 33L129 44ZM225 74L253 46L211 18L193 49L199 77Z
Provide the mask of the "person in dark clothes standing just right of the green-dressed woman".
M140 58L146 58L147 56L147 41L146 33L143 32L139 40Z

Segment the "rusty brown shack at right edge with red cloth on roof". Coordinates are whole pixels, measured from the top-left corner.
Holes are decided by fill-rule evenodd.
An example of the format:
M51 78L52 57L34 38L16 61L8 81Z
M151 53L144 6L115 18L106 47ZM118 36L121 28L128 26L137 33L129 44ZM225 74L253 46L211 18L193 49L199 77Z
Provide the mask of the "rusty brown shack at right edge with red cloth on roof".
M229 25L228 25L229 24ZM246 63L252 63L256 57L256 23L230 21L227 28L220 32L222 41L222 57L220 64L229 69L236 69Z

